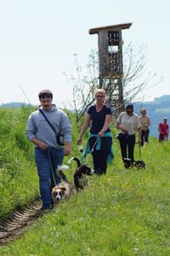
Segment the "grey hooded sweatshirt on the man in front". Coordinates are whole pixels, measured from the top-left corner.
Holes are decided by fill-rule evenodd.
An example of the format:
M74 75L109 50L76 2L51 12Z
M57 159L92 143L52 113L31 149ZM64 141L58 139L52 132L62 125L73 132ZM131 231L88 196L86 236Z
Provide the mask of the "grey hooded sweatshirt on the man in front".
M41 108L42 109L42 108ZM66 142L71 142L71 122L64 111L61 111L53 105L50 111L42 110L54 127L56 134L62 132ZM52 148L61 148L56 142L56 135L48 122L37 110L31 113L26 126L26 136L28 139L36 137Z

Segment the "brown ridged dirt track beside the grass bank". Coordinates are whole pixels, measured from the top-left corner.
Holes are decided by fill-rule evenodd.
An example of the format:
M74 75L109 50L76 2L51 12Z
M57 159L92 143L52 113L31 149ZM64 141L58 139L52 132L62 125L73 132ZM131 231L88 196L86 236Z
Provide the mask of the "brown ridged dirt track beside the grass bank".
M42 201L38 198L26 208L17 209L10 219L0 222L0 246L20 236L27 225L42 216L41 207Z

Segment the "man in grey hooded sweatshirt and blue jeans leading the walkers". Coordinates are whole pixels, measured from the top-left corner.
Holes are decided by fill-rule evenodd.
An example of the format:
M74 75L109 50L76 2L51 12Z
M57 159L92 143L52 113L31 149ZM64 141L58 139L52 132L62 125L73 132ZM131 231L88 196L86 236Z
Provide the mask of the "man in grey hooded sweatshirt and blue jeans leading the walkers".
M40 106L28 118L26 136L35 145L35 159L39 176L39 188L42 198L42 210L53 207L51 191L59 184L56 168L63 162L63 157L71 154L71 122L64 111L52 103L50 90L38 94ZM65 145L59 140L62 133ZM57 138L56 138L57 137Z

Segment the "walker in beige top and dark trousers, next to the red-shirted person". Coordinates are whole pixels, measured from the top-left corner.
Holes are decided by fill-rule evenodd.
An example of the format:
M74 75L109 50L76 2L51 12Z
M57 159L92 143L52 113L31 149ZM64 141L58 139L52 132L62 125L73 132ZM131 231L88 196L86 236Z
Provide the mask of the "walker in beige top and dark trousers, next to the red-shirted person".
M140 124L141 124L141 146L148 145L148 137L150 134L150 117L146 115L146 109L140 111Z

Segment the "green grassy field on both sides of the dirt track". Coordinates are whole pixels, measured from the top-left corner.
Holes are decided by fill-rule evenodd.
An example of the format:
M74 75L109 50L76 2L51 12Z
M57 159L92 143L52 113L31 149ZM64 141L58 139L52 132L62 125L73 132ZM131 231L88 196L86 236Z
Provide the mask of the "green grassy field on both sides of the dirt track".
M33 149L24 135L29 111L21 109L18 116L17 111L11 116L8 114L10 121L19 118L20 122L14 122L14 130L8 132L11 134L9 145L5 143L9 138L7 133L2 140L6 146L2 146L0 154L0 180L3 182L0 187L1 219L17 204L25 204L38 195ZM72 117L71 121L74 142L71 156L80 156L76 144L79 128L74 125ZM114 137L115 134L114 130ZM8 149L13 149L10 157L6 152ZM169 256L169 141L160 144L157 139L150 138L150 145L142 148L142 159L147 168L140 170L123 168L116 139L114 149L115 160L109 164L105 176L91 177L84 191L37 219L34 225L26 228L23 236L6 247L0 247L0 255ZM65 157L65 164L68 158ZM139 160L138 145L135 158ZM91 157L88 157L88 162L92 165ZM71 181L75 168L76 163L72 162L66 171ZM10 194L12 189L17 195Z

